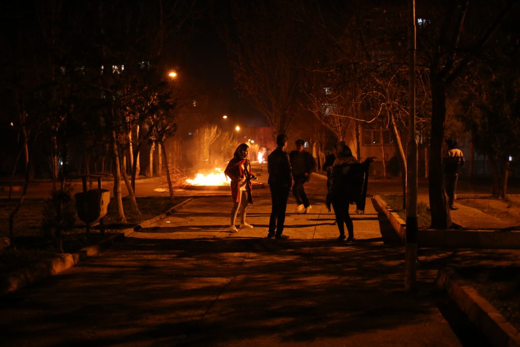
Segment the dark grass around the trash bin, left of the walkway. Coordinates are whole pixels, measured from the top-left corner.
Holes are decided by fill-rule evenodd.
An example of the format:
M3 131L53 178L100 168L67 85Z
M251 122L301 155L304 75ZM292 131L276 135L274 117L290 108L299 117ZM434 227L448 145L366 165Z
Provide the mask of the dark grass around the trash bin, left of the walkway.
M76 252L80 249L95 245L113 233L133 227L146 220L166 212L174 205L188 199L177 197L172 203L169 197L142 197L137 198L137 204L141 215L132 213L130 200L123 199L123 208L127 223L117 222L117 213L114 199L108 205L108 214L103 218L106 234L100 235L99 226L91 229L89 235L85 232L85 223L80 221L76 215L74 228L63 233L63 251L66 253ZM44 204L47 199L25 199L14 220L14 235L17 250L0 248L0 273L14 271L34 264L35 262L51 258L56 254L54 240L44 237L42 231L42 220ZM0 199L0 238L5 246L9 234L9 214L18 204L16 199Z

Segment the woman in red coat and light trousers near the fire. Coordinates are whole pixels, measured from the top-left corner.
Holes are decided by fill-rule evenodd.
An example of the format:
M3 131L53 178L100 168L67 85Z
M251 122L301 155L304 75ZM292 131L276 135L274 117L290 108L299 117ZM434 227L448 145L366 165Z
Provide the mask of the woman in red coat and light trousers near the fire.
M251 174L251 164L248 160L249 146L241 144L235 150L235 155L231 159L224 170L226 176L231 179L231 198L233 200L233 208L231 209L231 225L230 232L238 232L235 226L237 214L240 207L240 228L252 228L252 225L245 223L245 211L248 209L248 203L253 203L253 195L251 194L251 179L256 177Z

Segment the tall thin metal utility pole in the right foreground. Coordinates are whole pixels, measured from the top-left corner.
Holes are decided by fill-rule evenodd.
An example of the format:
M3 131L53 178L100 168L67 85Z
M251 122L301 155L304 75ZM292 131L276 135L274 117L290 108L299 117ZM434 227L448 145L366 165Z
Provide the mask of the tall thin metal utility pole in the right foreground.
M415 138L415 0L408 0L408 150L406 156L405 290L415 289L417 272L417 139Z

